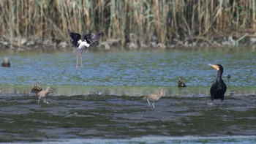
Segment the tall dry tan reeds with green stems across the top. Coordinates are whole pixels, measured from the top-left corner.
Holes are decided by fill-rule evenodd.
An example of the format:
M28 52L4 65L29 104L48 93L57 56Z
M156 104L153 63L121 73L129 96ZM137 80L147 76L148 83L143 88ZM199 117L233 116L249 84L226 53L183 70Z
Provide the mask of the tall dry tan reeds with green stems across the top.
M253 34L255 9L255 0L3 0L0 31L10 42L17 37L69 42L70 31L105 31L123 46L166 45Z

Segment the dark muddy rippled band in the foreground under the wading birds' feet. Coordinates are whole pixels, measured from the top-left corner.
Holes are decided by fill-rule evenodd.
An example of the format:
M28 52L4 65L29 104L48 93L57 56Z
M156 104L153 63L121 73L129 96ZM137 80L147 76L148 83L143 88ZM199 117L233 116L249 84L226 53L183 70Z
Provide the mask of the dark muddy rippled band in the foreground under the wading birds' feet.
M4 96L0 101L1 142L160 136L255 135L255 99L214 101L165 96L148 107L138 96Z

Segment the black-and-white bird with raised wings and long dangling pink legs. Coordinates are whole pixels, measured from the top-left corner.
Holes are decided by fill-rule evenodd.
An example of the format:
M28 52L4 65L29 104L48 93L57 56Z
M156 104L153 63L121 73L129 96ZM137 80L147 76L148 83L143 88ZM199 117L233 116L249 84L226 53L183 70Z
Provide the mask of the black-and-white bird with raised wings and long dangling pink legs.
M96 34L86 34L83 39L81 39L81 35L75 32L70 33L70 37L72 38L72 45L78 47L74 50L74 52L78 53L77 61L76 61L76 69L78 69L78 56L80 56L81 67L83 67L82 61L82 53L86 48L89 48L94 42L98 42L100 38L104 35L103 32L98 32Z

